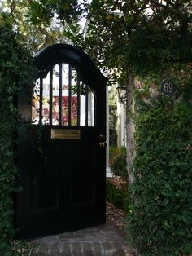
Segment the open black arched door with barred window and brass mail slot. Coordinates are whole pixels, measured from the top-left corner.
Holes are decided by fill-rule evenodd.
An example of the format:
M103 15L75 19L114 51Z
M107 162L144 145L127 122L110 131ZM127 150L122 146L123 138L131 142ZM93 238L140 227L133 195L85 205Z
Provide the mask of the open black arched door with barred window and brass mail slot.
M50 46L36 64L31 103L18 99L30 122L17 157L15 227L23 238L105 222L106 80L73 46Z

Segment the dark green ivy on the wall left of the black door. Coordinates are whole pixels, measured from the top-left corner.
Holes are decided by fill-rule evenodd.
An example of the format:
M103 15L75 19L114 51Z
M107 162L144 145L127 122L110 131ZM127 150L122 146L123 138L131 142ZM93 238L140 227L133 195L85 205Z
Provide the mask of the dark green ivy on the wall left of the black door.
M10 255L14 236L13 194L19 169L15 166L16 133L19 129L16 99L31 73L32 60L7 16L0 17L0 255ZM27 68L26 68L27 67ZM30 71L31 70L31 71Z

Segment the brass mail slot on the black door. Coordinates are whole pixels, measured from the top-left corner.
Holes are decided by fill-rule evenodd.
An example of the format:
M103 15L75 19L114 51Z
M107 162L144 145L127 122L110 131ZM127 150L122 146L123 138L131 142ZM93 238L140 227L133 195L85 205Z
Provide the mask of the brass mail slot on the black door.
M51 139L81 139L81 131L51 129Z

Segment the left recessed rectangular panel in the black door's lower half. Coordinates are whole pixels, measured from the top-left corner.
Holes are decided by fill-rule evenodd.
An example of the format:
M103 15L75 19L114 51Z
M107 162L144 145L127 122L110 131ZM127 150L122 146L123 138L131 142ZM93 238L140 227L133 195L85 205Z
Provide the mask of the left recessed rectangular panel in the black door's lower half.
M59 144L34 143L32 152L33 211L59 209Z

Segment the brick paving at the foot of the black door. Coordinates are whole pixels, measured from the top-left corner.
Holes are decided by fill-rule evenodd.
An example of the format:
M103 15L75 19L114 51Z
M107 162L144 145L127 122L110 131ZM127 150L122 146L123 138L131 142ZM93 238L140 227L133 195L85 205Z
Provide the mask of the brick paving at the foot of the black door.
M31 241L33 256L131 256L123 233L114 223Z

